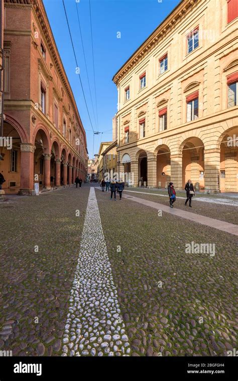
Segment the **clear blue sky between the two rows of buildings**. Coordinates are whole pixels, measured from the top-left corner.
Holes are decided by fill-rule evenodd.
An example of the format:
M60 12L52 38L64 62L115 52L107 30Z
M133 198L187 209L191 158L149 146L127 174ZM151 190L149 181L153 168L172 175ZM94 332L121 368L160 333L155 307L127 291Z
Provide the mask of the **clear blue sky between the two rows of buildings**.
M94 136L84 102L80 81L75 73L75 59L68 32L62 0L43 0L54 38L64 64L71 88L77 102L81 120L86 130L89 158L96 154L100 142L111 141L112 117L116 113L117 90L112 82L113 75L128 60L134 51L147 39L153 30L176 7L179 0L91 0L91 21L94 51L94 77L89 0L77 4L84 51L87 63L92 102L87 82L75 0L64 0L69 20L81 81L94 131L103 134ZM117 38L121 32L121 38ZM92 152L93 151L93 152Z

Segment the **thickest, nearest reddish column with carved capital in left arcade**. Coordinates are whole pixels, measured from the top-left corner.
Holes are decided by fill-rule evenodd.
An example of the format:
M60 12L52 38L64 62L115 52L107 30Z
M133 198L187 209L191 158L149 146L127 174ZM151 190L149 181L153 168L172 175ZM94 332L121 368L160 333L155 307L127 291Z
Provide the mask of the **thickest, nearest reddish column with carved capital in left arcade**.
M31 195L34 190L34 152L35 146L32 144L21 144L21 195Z

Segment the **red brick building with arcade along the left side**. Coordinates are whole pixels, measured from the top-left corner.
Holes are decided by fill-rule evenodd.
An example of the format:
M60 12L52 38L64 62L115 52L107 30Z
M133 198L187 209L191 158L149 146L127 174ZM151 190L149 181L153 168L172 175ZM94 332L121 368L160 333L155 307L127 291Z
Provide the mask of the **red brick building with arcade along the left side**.
M4 6L3 189L31 194L34 182L70 185L87 173L86 135L43 2Z

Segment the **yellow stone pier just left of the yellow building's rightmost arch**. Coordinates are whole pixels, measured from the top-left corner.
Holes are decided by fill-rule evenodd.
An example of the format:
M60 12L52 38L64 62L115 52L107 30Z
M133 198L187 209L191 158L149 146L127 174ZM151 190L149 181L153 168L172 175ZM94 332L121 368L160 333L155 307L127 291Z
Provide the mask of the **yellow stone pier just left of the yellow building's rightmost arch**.
M220 150L218 148L204 150L205 193L219 193Z

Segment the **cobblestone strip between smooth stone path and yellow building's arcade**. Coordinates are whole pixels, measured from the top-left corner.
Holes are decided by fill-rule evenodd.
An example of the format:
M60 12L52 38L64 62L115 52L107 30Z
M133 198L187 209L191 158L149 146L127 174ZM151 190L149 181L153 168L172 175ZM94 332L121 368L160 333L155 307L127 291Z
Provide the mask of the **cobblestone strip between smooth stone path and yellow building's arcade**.
M126 194L130 196L136 196L140 198L144 198L145 200L149 201L155 201L163 205L169 205L169 196L164 197L163 195L160 196L158 195L153 195L153 194L144 194L141 192L147 192L147 189L143 189L141 192L136 190L138 193L132 192L133 189L128 189L127 192L126 189ZM139 193L140 192L140 193ZM180 194L179 194L180 195ZM183 210L188 210L189 212L193 212L196 214L201 214L203 216L211 217L211 218L216 218L221 221L226 221L230 223L237 224L238 223L238 217L237 217L237 212L238 212L238 206L234 204L234 206L230 205L220 205L220 204L215 204L215 203L208 203L208 202L203 202L203 201L196 201L196 195L195 197L192 198L192 209L189 208L188 204L187 206L184 205L185 200L186 200L186 194L185 191L183 194L184 196L183 199L176 198L176 202L174 203L175 208L183 209ZM181 196L180 195L180 196ZM200 197L199 197L200 199ZM232 200L231 200L232 202Z

